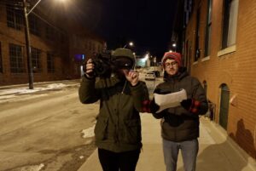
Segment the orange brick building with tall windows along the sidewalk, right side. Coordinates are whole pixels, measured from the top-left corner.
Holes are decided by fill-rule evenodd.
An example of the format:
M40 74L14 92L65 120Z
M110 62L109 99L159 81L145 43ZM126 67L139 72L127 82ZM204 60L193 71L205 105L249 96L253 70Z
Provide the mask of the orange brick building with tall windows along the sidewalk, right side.
M214 106L212 120L254 160L255 10L252 0L179 1L172 36L184 65L201 80Z

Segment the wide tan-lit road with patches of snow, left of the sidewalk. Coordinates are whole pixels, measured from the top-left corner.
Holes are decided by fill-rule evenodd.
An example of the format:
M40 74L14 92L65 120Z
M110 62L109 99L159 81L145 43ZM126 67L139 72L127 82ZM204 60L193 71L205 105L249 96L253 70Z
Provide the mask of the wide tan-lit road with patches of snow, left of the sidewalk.
M146 81L151 95L160 80ZM99 104L81 104L78 89L72 82L0 102L0 171L75 171L84 163L96 146L82 130L92 130Z

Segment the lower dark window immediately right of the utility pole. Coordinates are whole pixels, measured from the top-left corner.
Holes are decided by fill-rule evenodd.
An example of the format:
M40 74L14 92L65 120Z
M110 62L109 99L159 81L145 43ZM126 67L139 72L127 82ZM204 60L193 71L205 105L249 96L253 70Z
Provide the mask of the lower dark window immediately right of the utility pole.
M42 65L41 65L41 50L38 48L31 49L31 57L32 57L32 71L33 72L41 72Z

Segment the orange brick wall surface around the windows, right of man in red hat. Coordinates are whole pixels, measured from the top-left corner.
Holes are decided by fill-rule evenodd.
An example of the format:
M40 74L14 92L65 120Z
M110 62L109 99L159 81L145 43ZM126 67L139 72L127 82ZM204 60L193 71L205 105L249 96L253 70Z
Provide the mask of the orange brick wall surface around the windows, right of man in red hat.
M201 7L200 48L201 58L194 63L196 9ZM212 1L211 54L204 60L207 23L207 0L195 1L194 11L186 28L185 39L191 42L191 75L207 81L207 97L217 105L215 122L219 122L220 86L230 88L227 134L236 140L247 153L256 158L256 1L241 1L238 7L236 50L218 56L222 41L223 1Z

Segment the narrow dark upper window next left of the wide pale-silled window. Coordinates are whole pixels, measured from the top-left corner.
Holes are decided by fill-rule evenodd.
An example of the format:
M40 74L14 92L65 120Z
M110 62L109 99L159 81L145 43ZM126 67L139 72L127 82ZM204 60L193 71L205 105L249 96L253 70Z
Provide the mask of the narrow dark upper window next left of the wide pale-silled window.
M208 0L205 56L209 56L211 53L211 32L212 32L212 0Z

